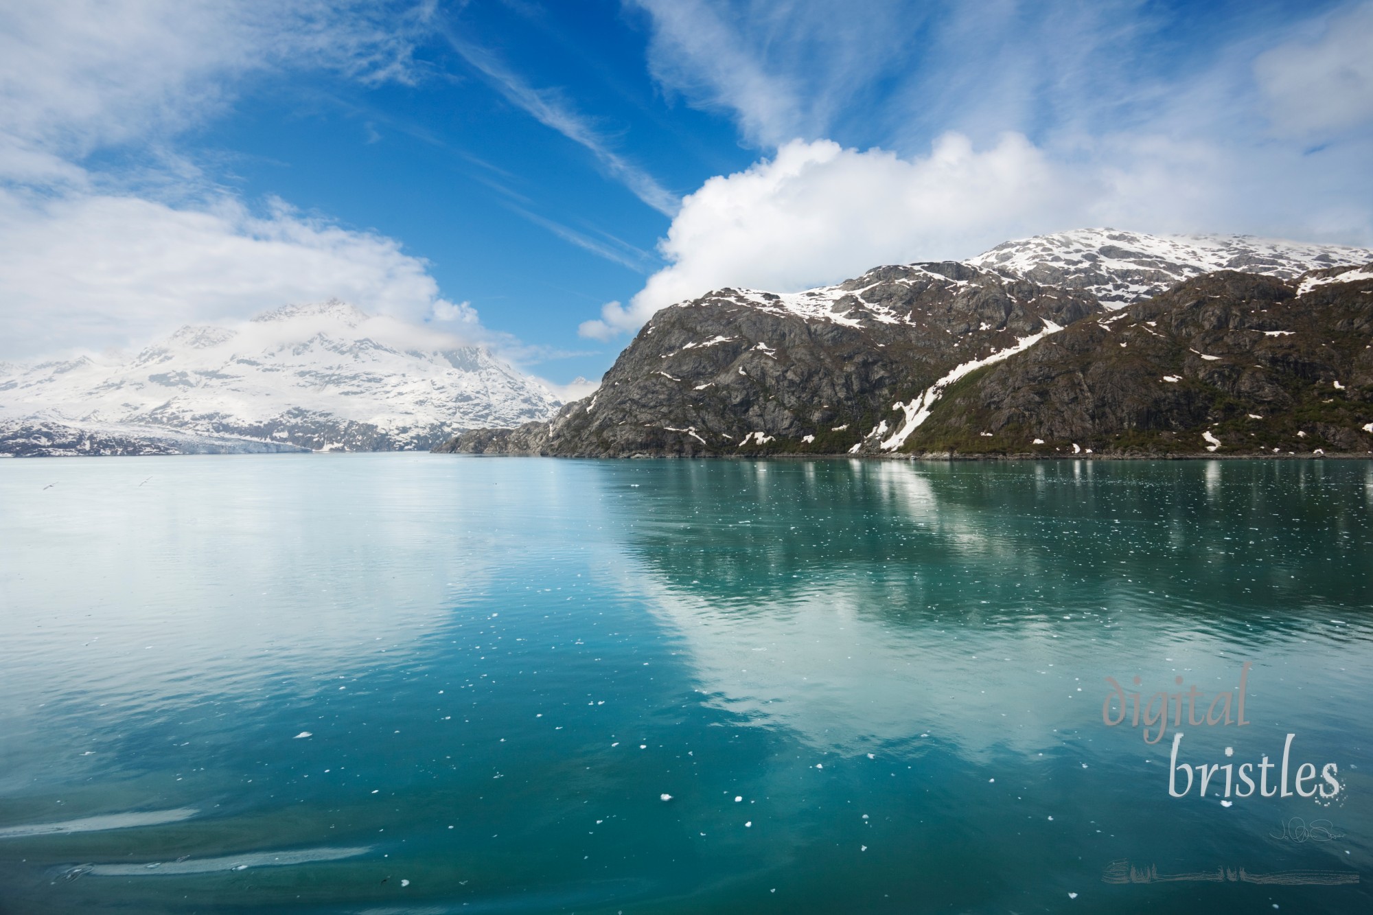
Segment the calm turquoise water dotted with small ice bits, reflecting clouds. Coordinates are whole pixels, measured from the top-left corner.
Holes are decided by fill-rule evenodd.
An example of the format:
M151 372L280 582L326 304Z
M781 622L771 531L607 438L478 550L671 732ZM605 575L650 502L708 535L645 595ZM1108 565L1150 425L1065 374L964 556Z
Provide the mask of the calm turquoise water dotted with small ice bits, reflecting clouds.
M1370 518L1333 460L3 462L0 912L1368 911ZM1245 727L1103 723L1245 662ZM1174 731L1340 791L1170 797Z

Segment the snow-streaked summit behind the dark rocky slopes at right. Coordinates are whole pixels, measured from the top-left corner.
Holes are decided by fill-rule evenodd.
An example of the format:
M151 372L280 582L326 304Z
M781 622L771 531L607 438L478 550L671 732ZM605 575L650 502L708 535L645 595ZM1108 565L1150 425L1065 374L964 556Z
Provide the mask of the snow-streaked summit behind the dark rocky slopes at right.
M1109 228L1037 235L998 245L968 261L1042 286L1081 289L1108 308L1149 298L1212 271L1243 271L1292 280L1307 271L1357 267L1373 250L1308 245L1248 235L1145 235Z

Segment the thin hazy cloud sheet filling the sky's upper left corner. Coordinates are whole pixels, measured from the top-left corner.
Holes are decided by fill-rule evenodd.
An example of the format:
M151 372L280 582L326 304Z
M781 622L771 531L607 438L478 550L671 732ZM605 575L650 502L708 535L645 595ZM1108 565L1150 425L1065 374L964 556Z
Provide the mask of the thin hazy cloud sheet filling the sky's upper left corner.
M413 43L432 12L434 0L4 4L0 137L11 151L70 163L203 122L251 73L330 69L364 82L412 82Z

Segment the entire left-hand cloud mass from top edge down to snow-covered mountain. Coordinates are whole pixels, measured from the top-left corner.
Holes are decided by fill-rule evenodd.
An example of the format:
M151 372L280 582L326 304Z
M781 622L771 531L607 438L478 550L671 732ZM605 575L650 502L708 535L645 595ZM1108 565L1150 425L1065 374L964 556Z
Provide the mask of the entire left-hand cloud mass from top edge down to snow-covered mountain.
M330 297L478 334L476 313L398 240L280 199L253 207L173 143L264 74L411 81L423 14L316 0L0 11L0 357L128 346Z

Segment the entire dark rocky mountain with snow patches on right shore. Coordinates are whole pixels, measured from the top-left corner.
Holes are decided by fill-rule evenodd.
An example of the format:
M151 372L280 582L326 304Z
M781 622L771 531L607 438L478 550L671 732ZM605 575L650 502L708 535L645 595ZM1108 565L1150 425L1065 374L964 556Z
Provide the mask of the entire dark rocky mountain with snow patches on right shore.
M1358 265L1373 261L1373 251L1362 251L1365 260L1358 264L1296 272L1303 258L1317 264L1321 258L1352 260L1351 251L1359 249L1329 254L1315 246L1284 245L1282 262L1260 258L1263 262L1247 264L1251 268L1247 272L1207 272L1190 264L1186 269L1190 279L1173 291L1156 297L1138 293L1133 305L1114 302L1115 309L1107 308L1090 287L1045 286L1026 279L1005 261L994 267L960 262L883 267L838 286L796 294L717 290L658 312L607 372L600 390L567 404L552 420L515 430L474 430L438 451L621 458L1052 456L1089 448L1094 453L1122 455L1216 453L1219 448L1212 449L1201 433L1211 423L1230 422L1240 407L1245 416L1296 411L1287 419L1270 419L1271 436L1247 431L1245 438L1252 441L1245 442L1233 442L1232 437L1227 448L1243 444L1248 448L1244 453L1259 453L1260 445L1269 449L1266 453L1273 453L1271 448L1280 453L1299 449L1313 453L1326 447L1352 452L1373 448L1370 430L1362 429L1373 420L1373 415L1362 418L1369 412L1365 403L1373 401L1373 381L1365 385L1362 370L1351 368L1354 363L1322 361L1329 353L1310 352L1317 346L1311 341L1322 335L1346 341L1321 343L1326 349L1373 345L1359 337L1366 324L1359 308L1369 301L1361 283L1366 283L1369 268ZM998 250L1004 254L1011 249L994 249ZM1248 254L1223 245L1215 250L1226 251L1232 260L1258 258L1254 246ZM1049 261L1045 269L1060 269L1061 262L1061 258ZM1131 271L1140 267L1131 264ZM1026 272L1035 271L1034 264L1019 265ZM1130 276L1122 275L1111 282L1127 280ZM1196 289L1212 291L1196 293L1196 283L1201 284ZM1182 317L1199 308L1197 302L1210 301L1197 295L1222 301L1203 309L1204 317ZM1313 315L1303 319L1300 331L1280 327L1251 331L1245 326L1245 334L1258 334L1248 349L1226 341L1226 354L1207 349L1200 349L1200 354L1179 354L1179 339L1189 341L1182 353L1199 346L1215 348L1207 337L1210 331L1203 332L1189 321L1208 327L1207 321L1222 320L1214 312L1223 305L1230 309L1223 320L1254 323L1258 319L1252 315L1243 320L1236 316L1248 315L1249 302L1260 300L1284 302L1274 306L1278 310L1271 316L1278 323L1296 321L1302 308L1310 308ZM1155 323L1163 313L1159 309L1170 316L1178 312L1179 323L1168 346L1142 342L1156 331L1133 320L1140 309L1152 309L1149 313L1156 316L1149 320ZM1129 372L1115 370L1119 356L1101 342L1100 335L1109 334L1112 326L1127 327L1141 338L1141 342L1115 341L1123 343L1118 350L1135 346L1129 353L1134 360ZM1060 346L1060 338L1071 346ZM1078 361L1063 367L1049 359L1061 352L1076 353ZM1189 357L1205 371L1193 371ZM1259 383L1252 374L1240 372L1245 378L1243 385L1221 383L1218 372L1230 372L1234 360L1247 357L1266 360L1267 381ZM1210 365L1212 361L1223 367ZM1050 379L1059 379L1049 386L1052 390L1041 390L1045 382L1024 368L1028 365L1046 365L1043 371ZM1322 414L1324 431L1297 429L1306 422L1307 414L1302 411L1311 408L1311 398L1292 393L1284 400L1273 392L1296 392L1300 379L1322 372L1343 372L1352 379L1351 387L1351 382L1330 378L1330 390L1341 392L1348 409L1326 409L1330 415ZM1166 376L1178 381L1163 381ZM1079 390L1070 392L1071 385L1063 379L1075 379ZM1344 387L1336 389L1335 381ZM1093 390L1097 385L1101 390ZM1155 390L1159 385L1166 386L1162 400ZM1245 392L1258 390L1266 392L1267 400L1245 400L1249 396ZM1026 401L1028 392L1039 392L1038 400ZM1178 392L1188 396L1179 400ZM1211 400L1205 401L1207 397ZM1201 409L1203 401L1211 407ZM1070 405L1074 403L1081 407L1078 414ZM994 412L998 408L1001 412ZM1287 426L1292 426L1289 433L1282 431ZM1336 433L1336 426L1343 431Z

